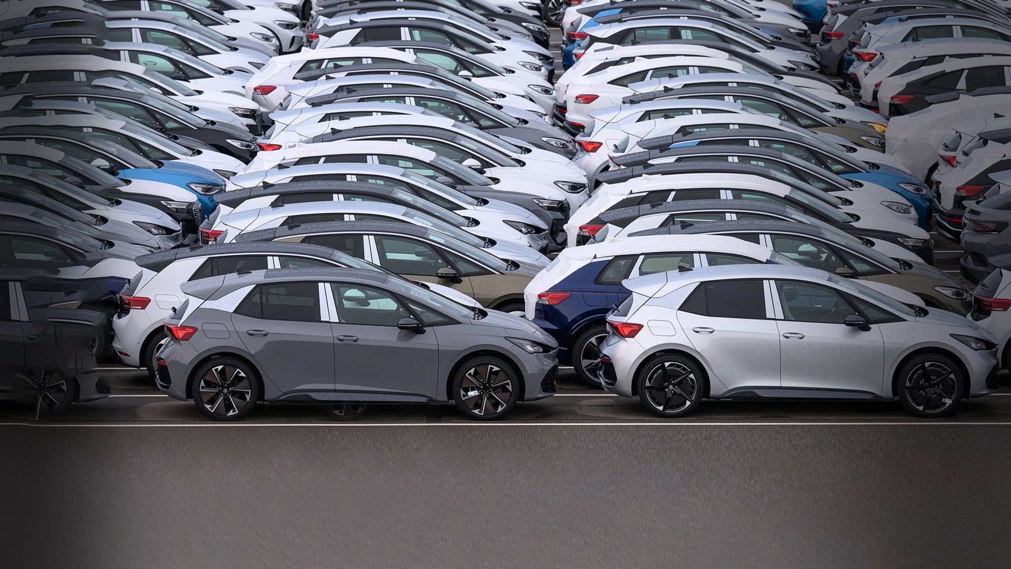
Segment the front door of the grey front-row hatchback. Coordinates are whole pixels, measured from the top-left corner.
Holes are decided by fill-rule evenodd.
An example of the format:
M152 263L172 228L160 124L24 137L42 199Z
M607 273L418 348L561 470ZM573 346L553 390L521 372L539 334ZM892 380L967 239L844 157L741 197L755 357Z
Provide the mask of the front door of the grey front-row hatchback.
M400 318L413 314L388 290L357 283L330 283L328 289L337 307L330 325L338 392L380 401L441 398L434 330L398 328Z

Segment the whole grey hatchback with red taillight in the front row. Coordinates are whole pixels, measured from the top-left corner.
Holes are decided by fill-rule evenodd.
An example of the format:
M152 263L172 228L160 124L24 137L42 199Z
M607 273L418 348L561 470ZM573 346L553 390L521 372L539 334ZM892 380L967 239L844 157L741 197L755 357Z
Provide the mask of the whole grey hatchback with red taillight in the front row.
M557 344L524 318L467 308L357 269L271 269L182 285L156 382L209 418L258 401L327 405L455 401L494 419L555 392Z

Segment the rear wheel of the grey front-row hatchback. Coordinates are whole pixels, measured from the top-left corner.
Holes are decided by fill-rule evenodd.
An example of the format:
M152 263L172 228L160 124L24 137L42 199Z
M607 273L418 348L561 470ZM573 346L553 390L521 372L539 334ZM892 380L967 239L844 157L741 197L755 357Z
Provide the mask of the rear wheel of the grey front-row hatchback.
M248 415L260 398L258 375L249 364L236 358L213 358L193 376L190 395L207 418L239 420Z

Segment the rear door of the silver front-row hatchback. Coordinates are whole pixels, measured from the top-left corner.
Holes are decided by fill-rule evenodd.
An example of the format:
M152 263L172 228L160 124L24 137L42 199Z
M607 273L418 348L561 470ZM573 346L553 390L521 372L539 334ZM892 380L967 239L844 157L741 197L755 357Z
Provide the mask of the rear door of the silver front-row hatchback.
M760 279L700 283L677 311L687 340L727 391L779 387L779 329ZM713 395L716 392L714 386Z

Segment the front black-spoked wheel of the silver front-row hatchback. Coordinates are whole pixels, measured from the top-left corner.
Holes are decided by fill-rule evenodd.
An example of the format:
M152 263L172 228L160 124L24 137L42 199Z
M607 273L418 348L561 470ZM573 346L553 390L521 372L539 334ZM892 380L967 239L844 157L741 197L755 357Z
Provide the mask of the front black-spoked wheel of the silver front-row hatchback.
M923 354L899 371L899 399L910 413L923 417L945 416L961 402L966 377L951 358Z

